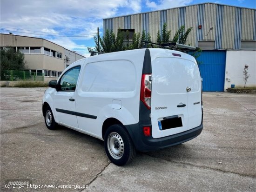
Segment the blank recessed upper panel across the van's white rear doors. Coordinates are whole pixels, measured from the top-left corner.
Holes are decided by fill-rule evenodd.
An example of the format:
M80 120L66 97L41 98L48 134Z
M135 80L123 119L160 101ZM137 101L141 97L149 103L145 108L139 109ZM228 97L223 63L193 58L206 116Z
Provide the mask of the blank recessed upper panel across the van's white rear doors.
M187 86L193 87L192 92L200 90L199 69L190 60L159 57L153 63L152 70L154 87L159 94L187 93Z

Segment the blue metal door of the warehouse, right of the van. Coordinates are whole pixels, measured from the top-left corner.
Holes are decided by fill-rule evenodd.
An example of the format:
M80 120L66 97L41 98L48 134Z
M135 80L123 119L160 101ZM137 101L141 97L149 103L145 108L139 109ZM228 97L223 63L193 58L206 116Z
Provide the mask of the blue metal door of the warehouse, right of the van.
M202 51L198 58L203 91L224 91L226 51Z

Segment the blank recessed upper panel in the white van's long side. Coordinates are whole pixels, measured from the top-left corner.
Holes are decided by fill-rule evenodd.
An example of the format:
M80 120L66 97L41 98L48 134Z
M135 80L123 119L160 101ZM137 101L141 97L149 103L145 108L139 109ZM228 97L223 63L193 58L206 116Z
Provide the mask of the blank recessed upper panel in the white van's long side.
M88 63L83 76L84 92L132 92L135 90L135 66L128 60Z

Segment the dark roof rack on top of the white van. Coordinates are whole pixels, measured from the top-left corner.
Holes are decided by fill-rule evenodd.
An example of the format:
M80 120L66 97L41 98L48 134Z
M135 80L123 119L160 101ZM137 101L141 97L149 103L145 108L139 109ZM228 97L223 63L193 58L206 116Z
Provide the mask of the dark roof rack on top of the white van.
M175 49L175 50L181 50L181 51L188 51L188 50L196 50L196 47L194 46L187 46L187 45L182 45L179 43L164 43L164 44L159 44L159 43L153 43L145 40L141 40L141 42L144 42L144 48L148 47L148 44L151 45L157 45L160 46L161 48L170 48L170 49Z

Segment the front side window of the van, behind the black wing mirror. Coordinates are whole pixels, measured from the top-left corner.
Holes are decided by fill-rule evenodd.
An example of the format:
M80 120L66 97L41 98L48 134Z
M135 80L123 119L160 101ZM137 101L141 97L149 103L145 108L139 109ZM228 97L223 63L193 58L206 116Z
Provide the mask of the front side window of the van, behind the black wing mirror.
M68 70L61 77L61 90L60 91L75 91L75 87L77 84L77 79L80 73L81 66L76 66L70 70Z

